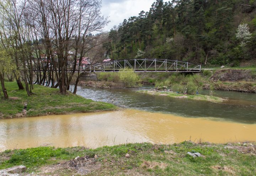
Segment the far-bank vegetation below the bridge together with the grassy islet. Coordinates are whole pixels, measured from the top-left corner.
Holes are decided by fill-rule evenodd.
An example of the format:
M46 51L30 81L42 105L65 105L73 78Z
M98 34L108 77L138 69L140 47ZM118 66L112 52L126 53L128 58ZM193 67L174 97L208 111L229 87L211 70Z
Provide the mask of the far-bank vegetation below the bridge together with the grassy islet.
M184 97L192 100L206 100L222 102L225 99L213 97L214 90L232 90L241 92L256 92L256 69L213 69L203 70L201 73L98 73L98 81L81 81L80 85L99 88L138 87L142 84L165 87L168 92L138 91L152 95L170 97ZM128 84L129 83L129 84ZM209 89L209 96L196 95L201 89ZM176 94L177 92L180 94Z

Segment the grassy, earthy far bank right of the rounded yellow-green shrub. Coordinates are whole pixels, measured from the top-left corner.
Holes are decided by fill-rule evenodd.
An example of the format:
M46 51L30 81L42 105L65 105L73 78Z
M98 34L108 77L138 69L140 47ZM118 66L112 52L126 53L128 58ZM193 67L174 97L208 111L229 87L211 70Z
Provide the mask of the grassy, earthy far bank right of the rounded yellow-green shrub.
M193 76L192 76L193 75ZM211 90L228 90L256 93L256 69L203 70L197 74L139 73L143 84L169 86L182 89L191 81L192 85ZM187 79L191 77L192 79ZM194 77L194 78L193 78ZM183 82L182 82L183 80ZM191 86L190 86L191 87Z

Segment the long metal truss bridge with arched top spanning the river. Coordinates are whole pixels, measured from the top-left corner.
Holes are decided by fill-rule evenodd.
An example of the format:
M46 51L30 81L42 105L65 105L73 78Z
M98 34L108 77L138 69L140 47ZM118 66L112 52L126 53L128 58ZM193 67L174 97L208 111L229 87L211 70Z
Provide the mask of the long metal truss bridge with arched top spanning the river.
M86 65L84 72L117 72L122 69L134 72L200 72L201 65L169 59L121 59Z

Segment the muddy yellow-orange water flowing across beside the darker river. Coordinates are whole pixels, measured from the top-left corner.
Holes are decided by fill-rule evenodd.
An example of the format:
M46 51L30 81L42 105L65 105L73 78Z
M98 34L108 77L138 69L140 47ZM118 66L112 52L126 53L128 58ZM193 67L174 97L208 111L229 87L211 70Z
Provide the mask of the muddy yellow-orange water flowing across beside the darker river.
M0 151L36 146L86 146L184 140L256 141L256 124L122 110L0 120Z

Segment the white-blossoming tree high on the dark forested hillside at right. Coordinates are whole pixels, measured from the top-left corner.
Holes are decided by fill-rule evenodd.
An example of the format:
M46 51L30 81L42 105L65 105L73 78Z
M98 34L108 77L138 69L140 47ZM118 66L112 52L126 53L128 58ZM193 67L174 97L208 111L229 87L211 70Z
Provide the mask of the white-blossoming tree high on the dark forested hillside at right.
M251 38L250 28L248 27L248 24L242 24L238 26L238 29L236 30L236 38L241 41L241 45L245 45L246 42Z

